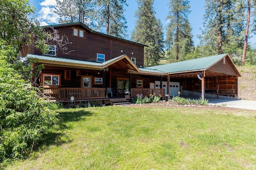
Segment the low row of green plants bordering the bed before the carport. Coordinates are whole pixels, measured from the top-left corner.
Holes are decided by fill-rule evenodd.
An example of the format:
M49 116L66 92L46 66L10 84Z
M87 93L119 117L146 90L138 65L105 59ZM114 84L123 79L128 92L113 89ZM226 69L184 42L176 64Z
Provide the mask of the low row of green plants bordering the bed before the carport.
M207 105L208 100L199 98L198 100L196 99L186 99L186 98L181 98L179 96L172 96L172 99L170 102L177 102L178 104L199 104L199 105Z

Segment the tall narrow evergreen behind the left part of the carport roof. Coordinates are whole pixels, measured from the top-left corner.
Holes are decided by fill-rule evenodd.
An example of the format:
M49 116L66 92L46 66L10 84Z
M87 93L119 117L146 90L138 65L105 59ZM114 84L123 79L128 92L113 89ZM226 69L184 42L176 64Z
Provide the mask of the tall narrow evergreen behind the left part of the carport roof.
M188 21L190 14L189 0L170 0L169 15L166 20L167 26L167 55L169 58L175 56L176 60L184 59L194 46L192 40L192 28Z

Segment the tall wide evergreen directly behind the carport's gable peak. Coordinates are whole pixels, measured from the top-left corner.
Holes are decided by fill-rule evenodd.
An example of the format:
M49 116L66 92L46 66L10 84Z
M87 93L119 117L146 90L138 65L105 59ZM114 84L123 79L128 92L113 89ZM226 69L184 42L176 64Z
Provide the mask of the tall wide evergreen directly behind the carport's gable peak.
M206 0L200 45L210 55L232 53L242 47L243 16L236 12L236 0Z

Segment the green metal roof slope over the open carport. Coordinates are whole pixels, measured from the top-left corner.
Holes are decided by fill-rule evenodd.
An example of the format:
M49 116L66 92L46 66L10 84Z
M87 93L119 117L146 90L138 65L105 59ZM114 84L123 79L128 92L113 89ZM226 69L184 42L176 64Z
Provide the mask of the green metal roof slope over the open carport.
M163 65L151 66L146 68L150 70L165 72L165 73L185 72L185 71L192 71L192 70L206 70L213 64L223 59L223 57L225 57L226 55L228 54L226 53L221 55L214 55L210 57L180 61L177 63L163 64Z

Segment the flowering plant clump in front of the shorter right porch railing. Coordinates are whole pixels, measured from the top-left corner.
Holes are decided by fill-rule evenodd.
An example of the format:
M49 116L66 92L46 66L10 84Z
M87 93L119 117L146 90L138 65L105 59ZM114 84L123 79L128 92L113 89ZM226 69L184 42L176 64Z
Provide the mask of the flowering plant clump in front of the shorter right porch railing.
M156 103L160 102L161 95L156 96L156 94L150 94L150 96L143 96L142 94L137 94L136 97L132 99L133 104L146 104L146 103Z

